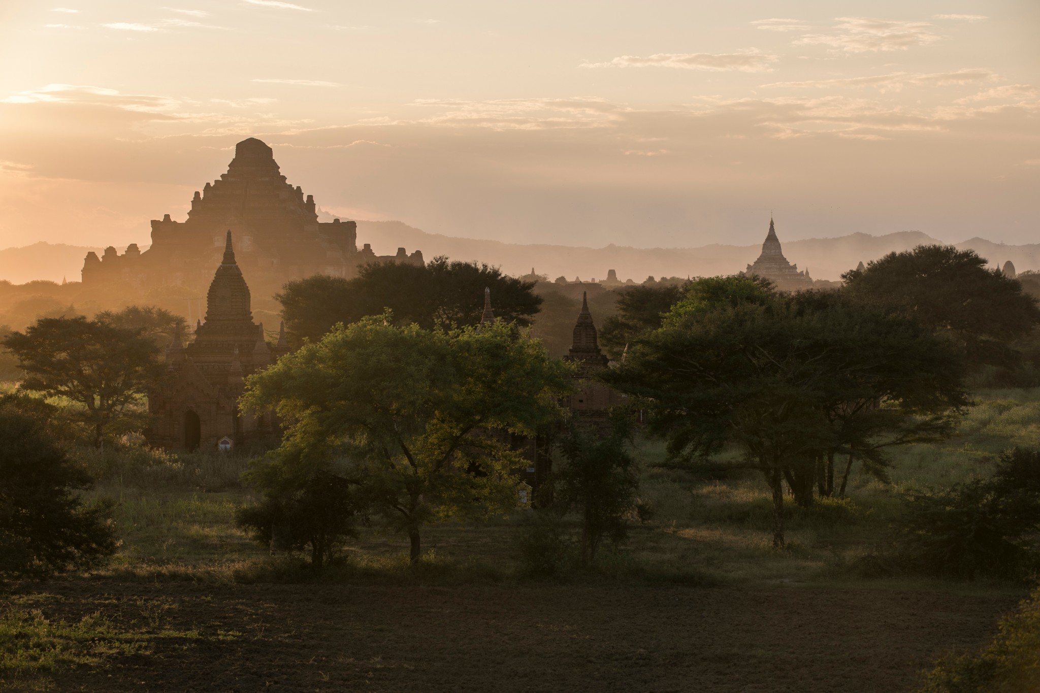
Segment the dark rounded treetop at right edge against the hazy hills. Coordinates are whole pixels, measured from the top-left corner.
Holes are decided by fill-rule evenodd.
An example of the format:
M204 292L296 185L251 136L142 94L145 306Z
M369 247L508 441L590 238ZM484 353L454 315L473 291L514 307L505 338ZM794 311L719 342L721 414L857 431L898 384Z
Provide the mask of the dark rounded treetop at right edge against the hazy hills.
M1037 300L1017 281L986 269L986 260L973 250L918 245L841 276L849 294L950 334L974 363L1012 362L1014 353L1007 343L1040 324Z

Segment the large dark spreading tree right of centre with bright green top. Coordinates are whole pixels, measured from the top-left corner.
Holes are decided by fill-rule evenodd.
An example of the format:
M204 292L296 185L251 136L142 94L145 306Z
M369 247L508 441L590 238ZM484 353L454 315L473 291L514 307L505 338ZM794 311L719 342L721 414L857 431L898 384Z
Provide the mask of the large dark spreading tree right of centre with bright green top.
M899 411L892 423L902 425L966 402L956 351L912 320L768 293L746 277L700 282L709 291L695 286L694 298L604 377L646 401L651 430L674 457L706 459L729 447L759 470L773 494L776 547L784 543L783 482L804 489L798 477L815 460L842 446L866 448L883 432L836 427L835 406L869 400ZM869 340L887 351L864 348ZM900 384L905 377L917 378L916 390Z

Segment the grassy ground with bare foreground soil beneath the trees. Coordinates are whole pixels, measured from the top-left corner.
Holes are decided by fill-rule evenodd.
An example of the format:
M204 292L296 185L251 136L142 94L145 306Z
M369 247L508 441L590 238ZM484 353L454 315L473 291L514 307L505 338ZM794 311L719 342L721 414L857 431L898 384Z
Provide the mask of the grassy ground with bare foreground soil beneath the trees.
M850 499L788 505L751 473L654 467L649 522L594 571L520 577L525 511L407 539L365 528L314 578L234 525L254 500L240 458L85 454L119 501L123 543L92 576L23 584L0 616L5 690L898 691L992 636L1021 586L866 580L851 569L902 490L989 474L1040 447L1040 391L980 393L959 434L899 451L891 484L854 474Z

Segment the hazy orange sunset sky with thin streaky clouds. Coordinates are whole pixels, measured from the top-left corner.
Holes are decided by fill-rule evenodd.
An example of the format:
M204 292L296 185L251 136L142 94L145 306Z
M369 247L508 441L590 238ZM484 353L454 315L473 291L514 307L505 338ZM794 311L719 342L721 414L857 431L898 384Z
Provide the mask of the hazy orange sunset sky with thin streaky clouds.
M0 247L147 244L249 136L330 213L450 236L1037 242L1038 28L1035 0L5 0Z

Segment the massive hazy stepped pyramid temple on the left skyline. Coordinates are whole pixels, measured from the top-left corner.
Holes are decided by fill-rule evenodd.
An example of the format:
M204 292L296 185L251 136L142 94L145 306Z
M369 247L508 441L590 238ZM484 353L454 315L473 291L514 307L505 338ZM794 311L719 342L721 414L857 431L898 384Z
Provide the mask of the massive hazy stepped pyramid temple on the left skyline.
M127 283L139 288L177 286L202 290L210 267L219 262L225 232L238 245L238 264L254 289L264 294L289 281L312 274L354 276L370 262L423 264L422 252L376 256L369 244L357 245L357 223L318 221L313 195L304 195L282 176L274 152L250 137L235 145L228 172L207 183L191 201L185 221L166 214L152 221L152 245L141 252L136 244L119 255L88 252L83 263L83 286Z

